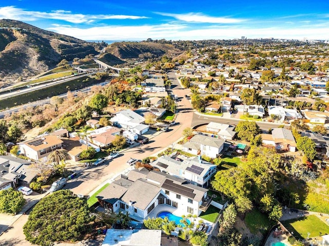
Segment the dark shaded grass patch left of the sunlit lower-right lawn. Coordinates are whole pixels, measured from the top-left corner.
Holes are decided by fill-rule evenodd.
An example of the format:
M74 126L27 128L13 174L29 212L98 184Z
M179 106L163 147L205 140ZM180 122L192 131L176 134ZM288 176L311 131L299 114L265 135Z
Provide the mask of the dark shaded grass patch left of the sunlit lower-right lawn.
M261 213L258 209L246 213L245 223L252 234L267 230L271 226L267 215Z

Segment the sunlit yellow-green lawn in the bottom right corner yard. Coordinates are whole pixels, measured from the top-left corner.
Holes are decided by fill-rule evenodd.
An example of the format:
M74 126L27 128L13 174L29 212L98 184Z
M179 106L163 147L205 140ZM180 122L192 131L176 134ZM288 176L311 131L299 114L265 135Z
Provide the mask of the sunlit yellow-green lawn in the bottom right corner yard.
M321 235L329 234L329 226L316 215L282 221L282 224L289 232L294 232L296 239L306 239L308 232L310 238L318 237L320 233Z

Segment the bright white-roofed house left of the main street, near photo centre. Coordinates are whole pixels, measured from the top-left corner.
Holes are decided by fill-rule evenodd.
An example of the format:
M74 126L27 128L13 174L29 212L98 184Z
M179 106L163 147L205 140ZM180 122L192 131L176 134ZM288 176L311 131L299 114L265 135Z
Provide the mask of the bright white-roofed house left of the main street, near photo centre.
M144 125L145 118L130 109L122 110L110 119L113 126L129 130L137 134L149 131L149 126Z

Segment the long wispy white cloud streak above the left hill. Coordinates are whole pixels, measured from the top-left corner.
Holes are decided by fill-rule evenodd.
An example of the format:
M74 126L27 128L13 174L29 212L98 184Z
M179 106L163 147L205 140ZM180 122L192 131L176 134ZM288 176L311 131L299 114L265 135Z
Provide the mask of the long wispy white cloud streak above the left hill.
M90 23L99 19L144 19L145 16L136 15L114 15L114 14L74 14L66 10L53 10L51 12L28 11L15 6L0 7L0 19L16 19L22 21L32 21L38 19L59 19L66 22L82 24Z

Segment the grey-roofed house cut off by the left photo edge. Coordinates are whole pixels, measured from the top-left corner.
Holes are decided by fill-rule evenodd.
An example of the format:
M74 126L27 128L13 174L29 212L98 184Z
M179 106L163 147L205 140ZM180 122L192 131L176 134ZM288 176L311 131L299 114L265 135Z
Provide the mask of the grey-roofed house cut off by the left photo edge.
M19 183L29 186L39 170L31 168L31 161L0 155L0 191L16 187Z

